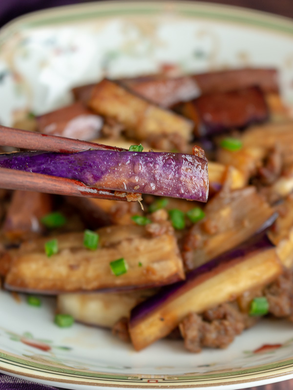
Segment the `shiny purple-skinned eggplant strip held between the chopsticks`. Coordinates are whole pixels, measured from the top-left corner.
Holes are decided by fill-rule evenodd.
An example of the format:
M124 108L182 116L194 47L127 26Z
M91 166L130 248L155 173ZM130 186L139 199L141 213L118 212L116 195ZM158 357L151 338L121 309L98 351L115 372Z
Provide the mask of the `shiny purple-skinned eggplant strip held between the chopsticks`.
M201 150L202 152L202 150ZM208 161L202 153L17 152L0 155L0 167L76 179L87 186L206 202Z

